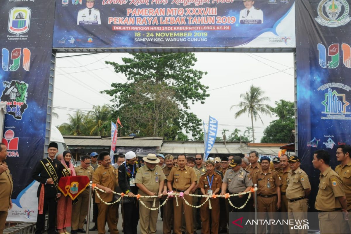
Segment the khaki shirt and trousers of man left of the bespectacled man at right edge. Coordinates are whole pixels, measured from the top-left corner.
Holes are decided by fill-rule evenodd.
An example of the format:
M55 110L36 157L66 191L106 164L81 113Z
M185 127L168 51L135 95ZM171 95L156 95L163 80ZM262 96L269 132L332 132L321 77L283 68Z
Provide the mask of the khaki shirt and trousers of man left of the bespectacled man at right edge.
M343 183L338 174L328 167L319 174L319 186L314 208L319 210L320 233L342 233L342 206L338 197L345 196Z

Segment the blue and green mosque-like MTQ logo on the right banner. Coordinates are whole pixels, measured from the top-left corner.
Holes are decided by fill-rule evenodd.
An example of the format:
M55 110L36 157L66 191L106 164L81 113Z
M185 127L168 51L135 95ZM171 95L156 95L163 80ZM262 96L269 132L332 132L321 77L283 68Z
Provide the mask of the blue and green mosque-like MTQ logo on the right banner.
M343 83L331 82L320 86L317 90L324 92L324 100L321 102L323 111L321 119L351 120L350 102L346 99L346 93L337 91L344 89L350 91L351 87Z

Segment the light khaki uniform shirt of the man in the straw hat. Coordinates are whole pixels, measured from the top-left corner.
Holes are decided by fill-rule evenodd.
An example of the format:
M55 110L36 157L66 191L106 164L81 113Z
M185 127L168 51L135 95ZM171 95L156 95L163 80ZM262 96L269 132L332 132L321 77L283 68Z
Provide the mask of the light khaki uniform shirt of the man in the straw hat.
M165 180L166 176L160 166L155 166L151 171L146 165L139 168L137 174L135 175L135 183L143 184L147 190L156 193L158 195L158 190L160 186L160 181ZM163 188L162 188L163 189ZM140 188L138 194L141 196L150 196L144 193ZM153 201L153 198L143 198L144 201Z

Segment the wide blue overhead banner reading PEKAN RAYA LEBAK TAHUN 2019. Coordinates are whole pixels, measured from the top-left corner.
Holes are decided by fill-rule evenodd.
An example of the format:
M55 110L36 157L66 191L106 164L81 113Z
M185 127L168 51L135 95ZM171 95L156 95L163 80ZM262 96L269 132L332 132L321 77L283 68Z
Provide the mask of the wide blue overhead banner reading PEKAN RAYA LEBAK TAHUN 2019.
M57 0L53 46L294 48L294 0Z

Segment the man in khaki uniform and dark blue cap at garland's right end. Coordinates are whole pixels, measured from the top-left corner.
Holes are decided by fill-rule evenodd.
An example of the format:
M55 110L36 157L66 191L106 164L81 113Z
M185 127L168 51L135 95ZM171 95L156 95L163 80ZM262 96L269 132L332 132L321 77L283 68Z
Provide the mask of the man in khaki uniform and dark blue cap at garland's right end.
M257 171L253 177L252 182L257 184L257 212L262 216L267 213L269 219L276 219L277 210L280 208L280 180L278 173L270 169L270 158L267 156L261 157L261 171ZM265 219L265 216L260 217ZM264 225L258 226L258 233L266 233ZM274 233L276 226L271 225L271 233Z

